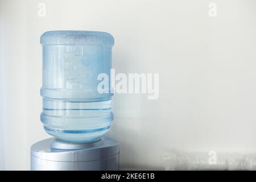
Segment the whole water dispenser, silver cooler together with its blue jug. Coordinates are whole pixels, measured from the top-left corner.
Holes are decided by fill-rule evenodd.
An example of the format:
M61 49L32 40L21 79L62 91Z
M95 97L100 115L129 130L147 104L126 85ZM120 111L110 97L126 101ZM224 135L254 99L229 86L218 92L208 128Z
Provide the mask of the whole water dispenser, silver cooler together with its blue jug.
M48 31L41 38L44 130L53 138L31 147L32 170L117 170L119 145L102 137L113 121L110 78L114 38L106 32ZM110 84L109 84L110 85Z

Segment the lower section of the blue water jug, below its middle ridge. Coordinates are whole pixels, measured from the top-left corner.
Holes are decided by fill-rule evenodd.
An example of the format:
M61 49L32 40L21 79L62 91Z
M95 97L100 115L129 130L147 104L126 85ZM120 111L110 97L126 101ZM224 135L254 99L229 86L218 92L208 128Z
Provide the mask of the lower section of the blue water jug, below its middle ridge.
M53 137L67 142L95 142L113 121L111 100L71 102L44 98L41 121Z

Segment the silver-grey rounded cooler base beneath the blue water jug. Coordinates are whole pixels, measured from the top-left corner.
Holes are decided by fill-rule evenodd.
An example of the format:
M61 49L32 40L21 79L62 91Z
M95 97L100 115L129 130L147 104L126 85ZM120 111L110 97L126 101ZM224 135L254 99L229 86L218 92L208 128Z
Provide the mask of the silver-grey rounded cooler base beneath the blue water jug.
M104 137L94 143L64 143L55 138L31 146L31 170L118 170L119 144Z

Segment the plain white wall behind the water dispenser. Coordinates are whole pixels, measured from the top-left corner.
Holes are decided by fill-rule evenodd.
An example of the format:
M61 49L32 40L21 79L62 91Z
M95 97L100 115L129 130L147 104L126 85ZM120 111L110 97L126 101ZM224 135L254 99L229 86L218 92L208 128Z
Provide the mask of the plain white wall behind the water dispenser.
M254 0L0 1L5 169L29 169L31 144L49 137L39 119L39 37L49 30L110 32L117 72L159 73L158 100L113 99L108 135L121 143L121 168L163 169L172 150L256 151L255 8Z

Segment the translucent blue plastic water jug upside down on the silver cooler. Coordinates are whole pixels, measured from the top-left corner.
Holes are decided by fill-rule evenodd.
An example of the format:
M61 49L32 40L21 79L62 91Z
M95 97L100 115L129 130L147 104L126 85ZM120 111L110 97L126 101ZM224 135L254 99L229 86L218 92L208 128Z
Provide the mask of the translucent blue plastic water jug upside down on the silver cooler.
M65 142L100 140L113 121L113 93L99 93L100 73L110 78L114 38L106 32L48 31L43 46L41 121ZM106 91L106 88L104 88Z

